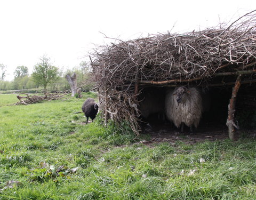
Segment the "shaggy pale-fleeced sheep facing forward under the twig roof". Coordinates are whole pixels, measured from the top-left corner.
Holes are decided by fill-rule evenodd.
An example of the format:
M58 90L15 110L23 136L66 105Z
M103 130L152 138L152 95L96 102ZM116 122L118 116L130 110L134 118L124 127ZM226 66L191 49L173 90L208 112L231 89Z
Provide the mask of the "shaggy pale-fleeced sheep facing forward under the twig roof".
M192 126L198 126L203 112L201 93L195 87L187 89L185 86L170 91L165 98L165 112L177 128L181 126L181 132L183 124L193 132Z

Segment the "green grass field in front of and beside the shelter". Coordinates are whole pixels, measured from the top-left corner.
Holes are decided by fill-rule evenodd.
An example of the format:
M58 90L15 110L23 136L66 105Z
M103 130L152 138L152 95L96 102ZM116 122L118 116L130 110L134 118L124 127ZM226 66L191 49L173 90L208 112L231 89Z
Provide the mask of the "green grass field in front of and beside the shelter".
M0 95L0 199L256 199L256 141L144 145L85 125L83 99L5 106Z

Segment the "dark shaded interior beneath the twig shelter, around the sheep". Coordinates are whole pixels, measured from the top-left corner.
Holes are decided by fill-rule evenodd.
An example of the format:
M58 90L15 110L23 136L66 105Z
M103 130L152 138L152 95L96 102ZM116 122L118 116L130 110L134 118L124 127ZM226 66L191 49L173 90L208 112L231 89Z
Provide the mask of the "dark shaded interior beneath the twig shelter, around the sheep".
M203 88L198 86L198 89L202 91L202 98L210 99L210 106L204 111L201 121L194 129L194 134L205 133L214 134L214 132L227 133L228 127L226 126L228 117L228 104L231 98L231 93L234 85L227 86L210 86ZM191 86L190 86L191 87ZM140 101L147 97L145 93L153 93L156 98L163 98L162 103L165 101L165 94L169 90L173 90L175 87L170 86L147 86L140 87L140 95L138 99ZM159 101L158 101L159 102ZM256 85L255 84L243 84L241 85L236 101L236 118L238 119L238 125L240 130L256 130ZM180 132L180 129L174 126L166 116L161 113L152 113L149 116L141 117L142 123L141 130L144 133L149 131L165 132L167 134L174 134ZM190 129L184 126L184 133L189 134Z

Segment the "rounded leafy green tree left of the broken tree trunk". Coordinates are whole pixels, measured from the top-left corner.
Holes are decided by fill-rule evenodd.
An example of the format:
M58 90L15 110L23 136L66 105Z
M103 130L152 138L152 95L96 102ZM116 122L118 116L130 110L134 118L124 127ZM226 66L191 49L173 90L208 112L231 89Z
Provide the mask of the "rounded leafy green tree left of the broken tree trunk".
M34 66L32 74L33 80L39 85L43 85L46 92L47 85L58 80L58 68L52 66L50 58L45 55L40 58L40 61Z

